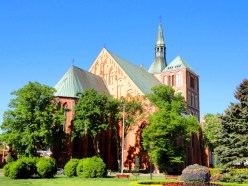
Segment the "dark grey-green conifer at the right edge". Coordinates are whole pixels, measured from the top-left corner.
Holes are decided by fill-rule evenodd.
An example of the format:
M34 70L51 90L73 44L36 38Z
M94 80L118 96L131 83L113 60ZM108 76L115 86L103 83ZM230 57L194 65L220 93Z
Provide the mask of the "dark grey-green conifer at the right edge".
M248 79L236 88L237 103L230 103L221 117L216 153L223 169L244 166L248 160Z

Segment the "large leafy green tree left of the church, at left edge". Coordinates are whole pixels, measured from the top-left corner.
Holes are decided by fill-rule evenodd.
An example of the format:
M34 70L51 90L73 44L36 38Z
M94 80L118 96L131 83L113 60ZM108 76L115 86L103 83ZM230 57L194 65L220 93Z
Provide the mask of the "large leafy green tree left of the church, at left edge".
M61 132L64 121L54 93L55 89L38 82L29 82L11 93L16 98L4 112L1 139L11 144L18 155L37 156L38 149L54 145L53 136Z

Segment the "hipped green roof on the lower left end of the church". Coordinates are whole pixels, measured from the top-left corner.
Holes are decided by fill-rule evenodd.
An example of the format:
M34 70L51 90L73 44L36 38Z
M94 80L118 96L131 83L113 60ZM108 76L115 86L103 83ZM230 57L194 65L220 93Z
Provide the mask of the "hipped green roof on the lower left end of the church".
M72 66L66 72L55 85L55 89L57 90L55 96L60 97L77 98L78 92L88 89L95 89L98 92L109 95L109 91L102 78L75 66Z

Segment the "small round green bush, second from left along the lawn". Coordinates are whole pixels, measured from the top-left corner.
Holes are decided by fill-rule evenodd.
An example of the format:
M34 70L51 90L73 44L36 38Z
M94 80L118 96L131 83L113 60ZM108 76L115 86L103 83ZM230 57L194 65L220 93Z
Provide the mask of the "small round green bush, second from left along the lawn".
M42 178L52 178L57 172L57 165L53 158L40 158L36 167L38 175Z

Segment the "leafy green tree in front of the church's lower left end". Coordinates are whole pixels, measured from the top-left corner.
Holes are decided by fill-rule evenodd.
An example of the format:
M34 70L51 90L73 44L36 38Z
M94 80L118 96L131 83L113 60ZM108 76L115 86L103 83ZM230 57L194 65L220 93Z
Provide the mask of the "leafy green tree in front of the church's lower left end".
M74 108L72 137L91 136L95 153L100 156L100 134L108 129L108 97L94 89L78 93L78 96L78 103Z

